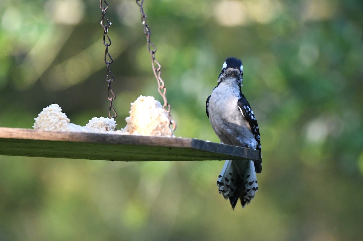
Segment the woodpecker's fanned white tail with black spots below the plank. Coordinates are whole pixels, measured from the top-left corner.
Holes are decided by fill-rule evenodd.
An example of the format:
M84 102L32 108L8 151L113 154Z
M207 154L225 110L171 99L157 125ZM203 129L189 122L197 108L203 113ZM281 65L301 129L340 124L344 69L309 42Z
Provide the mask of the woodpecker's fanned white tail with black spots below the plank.
M232 208L238 199L242 207L249 204L258 189L256 171L252 160L227 160L218 176L219 193L229 199Z

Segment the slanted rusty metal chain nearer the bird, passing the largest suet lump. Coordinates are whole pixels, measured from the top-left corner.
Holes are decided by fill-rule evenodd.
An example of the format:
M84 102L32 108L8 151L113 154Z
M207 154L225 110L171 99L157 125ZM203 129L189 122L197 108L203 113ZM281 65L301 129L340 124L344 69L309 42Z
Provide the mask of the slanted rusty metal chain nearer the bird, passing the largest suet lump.
M140 1L141 1L141 3L139 3ZM151 55L152 71L154 72L156 81L158 82L158 86L159 86L158 91L159 91L161 97L164 100L163 108L168 113L168 118L169 118L169 121L170 121L170 125L172 126L170 128L171 131L175 131L175 129L176 129L176 122L175 122L175 120L173 120L171 118L171 115L170 115L171 106L170 106L170 104L168 103L168 101L166 99L166 87L165 87L165 84L164 84L163 79L160 77L160 75L161 75L161 71L160 71L161 65L155 59L156 47L155 47L155 45L150 40L151 30L150 30L149 26L146 24L147 16L145 15L144 9L142 7L142 5L144 3L144 0L136 0L136 3L140 7L141 23L142 23L142 26L144 28L144 33L146 35L147 50L149 51L149 53ZM151 46L152 49L150 49L150 46ZM155 68L155 65L157 65L157 68Z

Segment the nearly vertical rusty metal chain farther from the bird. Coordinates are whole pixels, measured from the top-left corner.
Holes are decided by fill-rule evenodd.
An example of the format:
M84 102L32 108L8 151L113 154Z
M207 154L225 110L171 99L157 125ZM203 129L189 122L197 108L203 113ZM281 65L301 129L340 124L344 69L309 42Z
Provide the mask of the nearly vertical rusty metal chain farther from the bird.
M102 1L106 4L106 7L102 7ZM106 3L105 0L99 0L99 8L101 8L102 10L102 21L101 21L101 25L103 27L103 45L106 46L105 49L105 64L107 65L107 71L106 71L106 81L108 82L108 88L107 88L107 98L110 101L110 107L109 107L109 117L110 118L116 118L117 117L117 113L115 111L115 108L112 106L112 102L116 99L116 95L114 93L114 91L111 89L111 83L114 81L115 77L113 76L111 70L110 70L110 65L113 62L113 59L109 53L109 46L111 45L111 40L109 35L107 34L107 32L109 31L109 28L111 26L110 21L107 19L106 17L106 10L107 8L109 8L109 5ZM105 23L106 22L106 23ZM106 38L107 38L107 42L106 42ZM107 60L107 56L109 57L110 60ZM109 78L110 76L110 78ZM112 96L110 97L110 92L112 94ZM114 113L114 115L111 116L111 109Z

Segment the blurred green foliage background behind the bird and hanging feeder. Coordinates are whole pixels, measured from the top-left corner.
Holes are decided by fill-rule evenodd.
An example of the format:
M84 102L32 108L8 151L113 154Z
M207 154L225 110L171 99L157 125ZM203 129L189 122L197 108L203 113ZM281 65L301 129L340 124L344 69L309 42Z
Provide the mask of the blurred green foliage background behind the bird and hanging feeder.
M118 127L157 92L134 1L108 1ZM120 163L0 156L0 240L362 240L360 0L145 0L176 136L218 142L205 115L223 61L242 59L263 172L232 211L223 162ZM58 103L107 116L97 1L2 0L0 126L32 128Z

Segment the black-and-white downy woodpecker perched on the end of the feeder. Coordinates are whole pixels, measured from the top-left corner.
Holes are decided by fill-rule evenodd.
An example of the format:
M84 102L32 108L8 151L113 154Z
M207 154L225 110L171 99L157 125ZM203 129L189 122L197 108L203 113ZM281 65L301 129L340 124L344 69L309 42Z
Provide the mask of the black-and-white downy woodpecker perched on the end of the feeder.
M217 86L206 103L207 116L220 141L260 151L260 160L226 160L218 177L219 193L229 199L232 208L238 199L249 204L258 189L256 172L262 171L260 131L254 113L241 91L241 60L227 58L217 79Z

